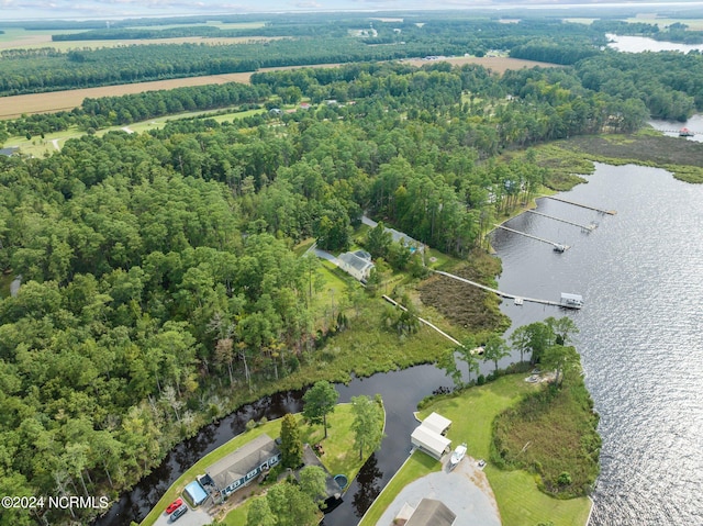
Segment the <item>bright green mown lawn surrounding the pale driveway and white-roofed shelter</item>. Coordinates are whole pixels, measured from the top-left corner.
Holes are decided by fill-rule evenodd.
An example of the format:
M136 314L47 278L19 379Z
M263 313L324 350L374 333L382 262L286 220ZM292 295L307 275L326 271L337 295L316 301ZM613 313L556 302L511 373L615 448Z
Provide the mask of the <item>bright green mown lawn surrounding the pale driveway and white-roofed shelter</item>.
M453 422L447 435L453 443L466 443L468 455L488 460L493 418L516 404L524 393L538 389L526 383L524 377L524 374L501 377L495 382L469 389L458 396L442 398L423 407L420 417L424 418L433 411L446 416ZM425 460L408 461L383 490L382 499L373 503L359 526L376 526L376 521L402 488L425 473L439 469L439 462L426 455L414 454L413 457L415 456L425 457ZM417 466L419 462L422 467ZM501 471L490 463L484 471L495 494L504 526L535 526L539 522L547 521L558 526L585 524L591 508L589 499L569 501L551 499L537 490L533 475L526 471Z

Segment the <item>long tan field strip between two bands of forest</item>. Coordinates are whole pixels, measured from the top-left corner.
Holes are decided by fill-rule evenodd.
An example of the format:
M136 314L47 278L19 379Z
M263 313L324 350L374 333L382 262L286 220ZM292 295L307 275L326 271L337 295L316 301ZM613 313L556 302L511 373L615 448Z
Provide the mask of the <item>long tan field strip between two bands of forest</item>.
M478 64L484 68L491 69L493 72L503 74L507 69L523 69L527 67L543 66L556 67L554 64L537 63L533 60L522 60L518 58L506 57L457 57L444 59L450 64ZM415 66L431 64L433 60L412 59L408 60ZM259 71L279 71L281 69L294 68L332 68L338 67L339 64L317 64L310 66L284 66L276 68L261 68ZM186 86L207 86L220 85L226 82L248 83L252 74L225 74L225 75L208 75L204 77L187 77L169 80L156 80L153 82L137 82L116 86L103 86L100 88L83 88L66 91L52 91L48 93L31 93L14 97L0 97L0 119L16 119L24 114L34 113L54 113L57 111L70 111L79 107L83 99L99 99L101 97L119 97L131 93L143 93L145 91L169 90Z

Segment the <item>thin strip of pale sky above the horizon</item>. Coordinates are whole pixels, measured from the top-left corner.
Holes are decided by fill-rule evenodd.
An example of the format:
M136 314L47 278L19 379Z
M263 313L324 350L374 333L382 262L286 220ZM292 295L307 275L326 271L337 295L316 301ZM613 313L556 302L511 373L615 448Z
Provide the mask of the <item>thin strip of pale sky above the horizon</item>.
M703 5L701 0L0 0L0 23L18 20L127 19L314 11L416 11L511 7Z

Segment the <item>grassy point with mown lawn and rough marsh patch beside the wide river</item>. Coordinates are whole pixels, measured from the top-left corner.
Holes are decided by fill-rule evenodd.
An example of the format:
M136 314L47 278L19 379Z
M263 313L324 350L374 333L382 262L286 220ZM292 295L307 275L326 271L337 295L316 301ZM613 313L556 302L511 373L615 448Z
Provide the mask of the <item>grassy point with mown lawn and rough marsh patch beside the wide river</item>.
M525 376L509 374L484 385L427 399L419 416L424 418L437 412L451 419L448 437L453 443L466 441L469 456L488 460L484 471L505 526L534 526L549 521L558 525L583 526L591 501L583 495L568 500L550 496L543 491L543 477L534 468L540 466L539 470L547 473L568 466L574 484L577 473L584 473L584 483L587 480L592 482L591 477L598 473L598 417L591 411L580 376L569 377L565 382L572 383L565 384L553 394L547 394L551 388L545 384L525 382ZM536 401L544 403L536 405ZM546 426L545 422L553 423ZM577 428L579 432L574 433ZM504 441L506 436L511 437L510 445ZM511 455L520 457L525 436L534 439L534 444L526 448L529 451L527 461L505 461L503 449L509 448ZM580 454L585 448L580 440L585 441L587 438L594 440L590 450L595 455ZM496 448L496 439L501 444L500 449ZM570 452L572 449L577 455ZM359 526L376 525L406 484L439 469L439 462L428 456L413 454ZM547 477L545 474L544 479Z

